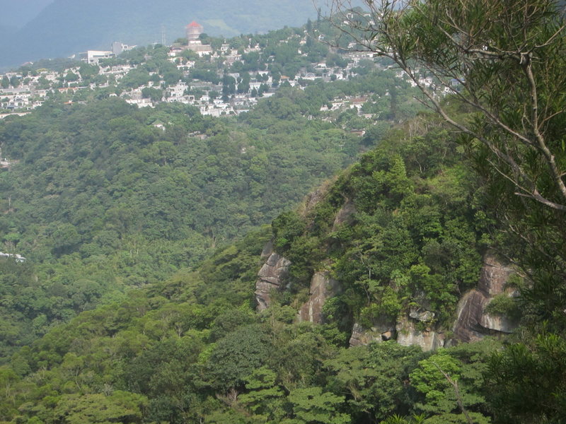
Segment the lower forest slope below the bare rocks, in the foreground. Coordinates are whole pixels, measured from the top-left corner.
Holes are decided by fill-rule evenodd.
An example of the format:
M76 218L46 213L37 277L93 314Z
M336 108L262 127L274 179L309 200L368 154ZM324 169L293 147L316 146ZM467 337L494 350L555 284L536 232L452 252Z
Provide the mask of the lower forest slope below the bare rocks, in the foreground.
M373 423L429 413L426 384L442 406L434 416L458 416L454 394L427 365L446 365L436 356L395 341L338 347L323 326L293 324L289 307L255 314L255 273L268 237L269 228L250 234L197 271L83 312L18 351L0 373L10 386L0 394L2 419ZM442 354L477 414L485 413L486 355L497 346Z

